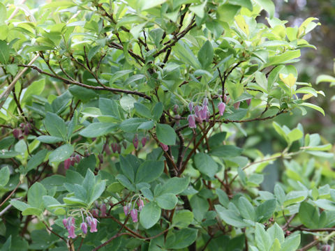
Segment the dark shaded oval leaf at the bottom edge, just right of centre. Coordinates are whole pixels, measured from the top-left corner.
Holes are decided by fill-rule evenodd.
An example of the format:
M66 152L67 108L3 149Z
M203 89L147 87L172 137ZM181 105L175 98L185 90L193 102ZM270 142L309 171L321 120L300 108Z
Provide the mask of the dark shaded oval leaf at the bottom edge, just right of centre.
M198 236L198 229L181 229L175 231L172 236L168 236L166 239L166 248L181 250L183 248L189 247ZM170 237L170 238L169 238Z

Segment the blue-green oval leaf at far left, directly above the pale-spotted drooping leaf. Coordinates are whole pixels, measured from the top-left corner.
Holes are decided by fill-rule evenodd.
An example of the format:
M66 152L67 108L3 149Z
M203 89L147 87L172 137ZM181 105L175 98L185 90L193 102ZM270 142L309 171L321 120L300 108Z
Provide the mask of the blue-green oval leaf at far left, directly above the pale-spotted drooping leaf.
M63 119L61 119L57 114L47 112L44 120L45 129L50 135L54 137L61 137L66 140L67 130L66 124Z

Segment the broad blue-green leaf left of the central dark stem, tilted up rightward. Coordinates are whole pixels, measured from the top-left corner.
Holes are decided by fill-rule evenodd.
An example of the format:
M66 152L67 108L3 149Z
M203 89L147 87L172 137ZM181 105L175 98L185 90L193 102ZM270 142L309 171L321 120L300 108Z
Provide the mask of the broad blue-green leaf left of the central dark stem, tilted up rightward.
M163 161L155 161L155 160L147 160L143 162L140 167L138 167L135 183L150 183L151 181L156 180L163 174L164 171L164 162Z

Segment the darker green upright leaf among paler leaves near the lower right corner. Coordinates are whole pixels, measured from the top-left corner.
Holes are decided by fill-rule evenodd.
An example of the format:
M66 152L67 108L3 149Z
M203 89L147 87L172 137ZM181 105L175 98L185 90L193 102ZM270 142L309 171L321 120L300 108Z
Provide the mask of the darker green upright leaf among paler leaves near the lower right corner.
M318 208L312 206L306 201L302 201L299 206L299 219L301 223L310 229L316 229L319 227L319 211Z

